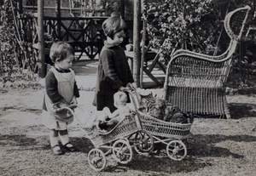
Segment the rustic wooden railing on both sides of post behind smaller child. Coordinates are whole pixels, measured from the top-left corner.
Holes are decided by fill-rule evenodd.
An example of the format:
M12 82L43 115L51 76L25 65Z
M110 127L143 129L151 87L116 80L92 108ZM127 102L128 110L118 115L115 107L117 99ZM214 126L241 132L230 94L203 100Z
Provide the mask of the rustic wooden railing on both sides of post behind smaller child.
M45 64L50 64L49 48L55 41L70 43L75 59L94 60L103 45L102 22L107 17L44 17ZM38 73L38 18L22 15L18 18L20 28L20 60L23 69Z

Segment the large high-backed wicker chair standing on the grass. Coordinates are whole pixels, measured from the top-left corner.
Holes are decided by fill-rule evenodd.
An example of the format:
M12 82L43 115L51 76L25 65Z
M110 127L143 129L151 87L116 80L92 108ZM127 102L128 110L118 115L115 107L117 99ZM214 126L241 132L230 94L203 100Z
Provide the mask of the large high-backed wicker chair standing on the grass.
M225 82L232 65L232 55L241 39L250 7L226 15L224 28L230 45L224 54L211 56L180 49L167 65L165 99L184 113L230 118L225 97Z

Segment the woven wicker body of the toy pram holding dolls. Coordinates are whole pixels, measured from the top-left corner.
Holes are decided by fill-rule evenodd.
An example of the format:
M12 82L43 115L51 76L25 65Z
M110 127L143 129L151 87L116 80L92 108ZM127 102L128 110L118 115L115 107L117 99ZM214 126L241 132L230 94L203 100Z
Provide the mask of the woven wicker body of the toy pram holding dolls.
M126 117L108 133L95 133L92 128L84 128L87 138L95 147L108 144L116 139L125 138L138 130L140 129L137 126L136 118L132 116Z

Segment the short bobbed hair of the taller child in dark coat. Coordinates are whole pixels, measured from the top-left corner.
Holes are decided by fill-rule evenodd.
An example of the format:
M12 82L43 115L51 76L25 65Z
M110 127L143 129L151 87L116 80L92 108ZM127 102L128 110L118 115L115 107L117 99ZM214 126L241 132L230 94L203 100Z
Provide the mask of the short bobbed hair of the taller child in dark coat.
M126 30L125 20L121 19L118 16L110 17L103 22L102 29L107 37L113 39L113 35L116 32Z

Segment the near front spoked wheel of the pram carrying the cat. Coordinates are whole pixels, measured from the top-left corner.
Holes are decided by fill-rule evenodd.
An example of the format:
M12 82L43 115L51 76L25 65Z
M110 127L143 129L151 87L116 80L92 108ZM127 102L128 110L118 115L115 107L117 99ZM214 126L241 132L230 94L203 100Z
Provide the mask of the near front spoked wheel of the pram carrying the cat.
M187 156L187 147L181 140L172 140L166 146L167 155L175 161L182 161Z

